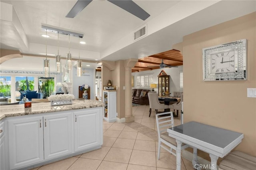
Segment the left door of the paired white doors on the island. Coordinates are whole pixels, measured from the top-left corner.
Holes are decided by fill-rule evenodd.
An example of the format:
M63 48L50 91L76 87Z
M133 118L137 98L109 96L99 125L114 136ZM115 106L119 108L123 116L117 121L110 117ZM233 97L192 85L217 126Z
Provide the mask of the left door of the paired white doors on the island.
M44 160L42 116L8 121L8 136L10 169Z

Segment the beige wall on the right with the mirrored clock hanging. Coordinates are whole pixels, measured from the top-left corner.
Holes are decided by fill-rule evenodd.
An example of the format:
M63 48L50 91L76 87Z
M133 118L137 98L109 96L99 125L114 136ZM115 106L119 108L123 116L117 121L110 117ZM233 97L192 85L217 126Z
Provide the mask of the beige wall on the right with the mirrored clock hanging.
M247 39L248 80L203 81L202 49L241 39ZM183 59L184 122L241 132L235 150L256 156L256 98L247 97L247 88L256 88L256 12L184 36Z

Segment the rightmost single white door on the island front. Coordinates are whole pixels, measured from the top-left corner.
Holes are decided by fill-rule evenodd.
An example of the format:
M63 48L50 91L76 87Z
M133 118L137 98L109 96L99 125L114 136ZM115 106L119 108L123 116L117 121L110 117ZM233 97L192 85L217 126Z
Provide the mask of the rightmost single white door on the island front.
M74 112L74 149L88 149L102 145L102 118L100 109L83 109Z

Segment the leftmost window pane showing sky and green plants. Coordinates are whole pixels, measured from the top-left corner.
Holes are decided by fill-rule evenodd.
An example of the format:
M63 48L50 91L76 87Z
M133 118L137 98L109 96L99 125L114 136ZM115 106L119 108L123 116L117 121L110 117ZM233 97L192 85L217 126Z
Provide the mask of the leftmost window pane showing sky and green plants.
M0 97L11 96L11 77L0 76Z

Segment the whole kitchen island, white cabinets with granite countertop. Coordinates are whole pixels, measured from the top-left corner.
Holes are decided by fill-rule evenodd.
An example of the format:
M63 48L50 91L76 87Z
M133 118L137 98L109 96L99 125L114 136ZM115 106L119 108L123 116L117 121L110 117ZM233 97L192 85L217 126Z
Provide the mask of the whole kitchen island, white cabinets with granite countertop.
M94 100L1 106L0 169L34 168L100 148L103 106Z

